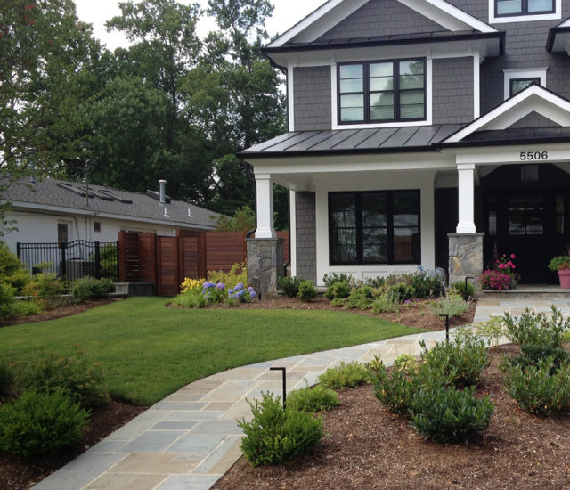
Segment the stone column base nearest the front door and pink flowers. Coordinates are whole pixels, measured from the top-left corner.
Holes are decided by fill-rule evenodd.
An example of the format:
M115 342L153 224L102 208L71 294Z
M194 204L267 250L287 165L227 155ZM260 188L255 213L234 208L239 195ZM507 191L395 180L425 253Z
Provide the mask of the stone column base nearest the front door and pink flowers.
M483 272L483 237L485 233L448 233L449 283L477 278Z

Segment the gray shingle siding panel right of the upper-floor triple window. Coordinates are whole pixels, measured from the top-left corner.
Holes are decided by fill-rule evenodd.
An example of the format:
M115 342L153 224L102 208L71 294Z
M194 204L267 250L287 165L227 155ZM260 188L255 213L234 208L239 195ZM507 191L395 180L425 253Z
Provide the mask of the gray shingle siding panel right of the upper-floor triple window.
M473 120L473 58L433 61L433 123Z

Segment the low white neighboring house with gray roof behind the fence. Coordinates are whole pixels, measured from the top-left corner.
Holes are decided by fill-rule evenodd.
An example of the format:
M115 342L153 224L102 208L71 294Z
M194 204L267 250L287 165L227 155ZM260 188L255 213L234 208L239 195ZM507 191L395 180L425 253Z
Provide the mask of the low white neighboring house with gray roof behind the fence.
M178 229L208 231L216 228L217 213L158 191L127 192L120 189L46 178L11 185L0 202L12 208L5 219L14 221L3 240L16 251L17 242L55 243L75 240L114 242L118 232L151 232L175 236ZM10 231L8 228L15 227Z

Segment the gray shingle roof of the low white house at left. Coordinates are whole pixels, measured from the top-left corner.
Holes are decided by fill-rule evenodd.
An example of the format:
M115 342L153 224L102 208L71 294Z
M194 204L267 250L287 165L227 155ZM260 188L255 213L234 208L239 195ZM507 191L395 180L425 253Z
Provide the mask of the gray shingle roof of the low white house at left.
M73 190L70 190L72 187ZM81 188L84 188L82 190ZM25 183L12 184L0 195L1 200L18 203L41 204L46 206L57 206L73 210L105 213L125 216L130 219L140 221L154 220L164 222L169 225L186 225L215 228L216 220L213 216L218 213L205 208L200 208L194 204L183 202L182 200L170 200L166 209L168 217L165 217L165 208L160 206L158 193L154 192L152 197L141 192L127 192L102 185L89 185L89 207L85 199L85 184L78 184L59 179L46 178L37 181L35 185L29 185L29 180ZM188 211L190 215L188 216Z

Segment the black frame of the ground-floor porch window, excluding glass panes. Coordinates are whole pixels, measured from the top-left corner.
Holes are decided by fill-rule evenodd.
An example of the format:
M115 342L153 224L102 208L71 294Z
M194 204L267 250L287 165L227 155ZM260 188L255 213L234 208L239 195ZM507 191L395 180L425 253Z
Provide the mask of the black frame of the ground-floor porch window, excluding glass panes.
M415 192L418 196L418 240L419 248L417 262L398 262L394 259L394 196L404 192ZM362 246L362 195L365 194L385 194L386 195L386 225L387 225L387 262L364 262ZM355 223L356 223L356 263L354 262L334 262L333 261L333 226L332 226L332 206L331 200L336 195L352 194L355 196ZM329 192L328 198L329 215L329 265L419 265L421 264L421 191L419 189L397 189L392 191L338 191Z

